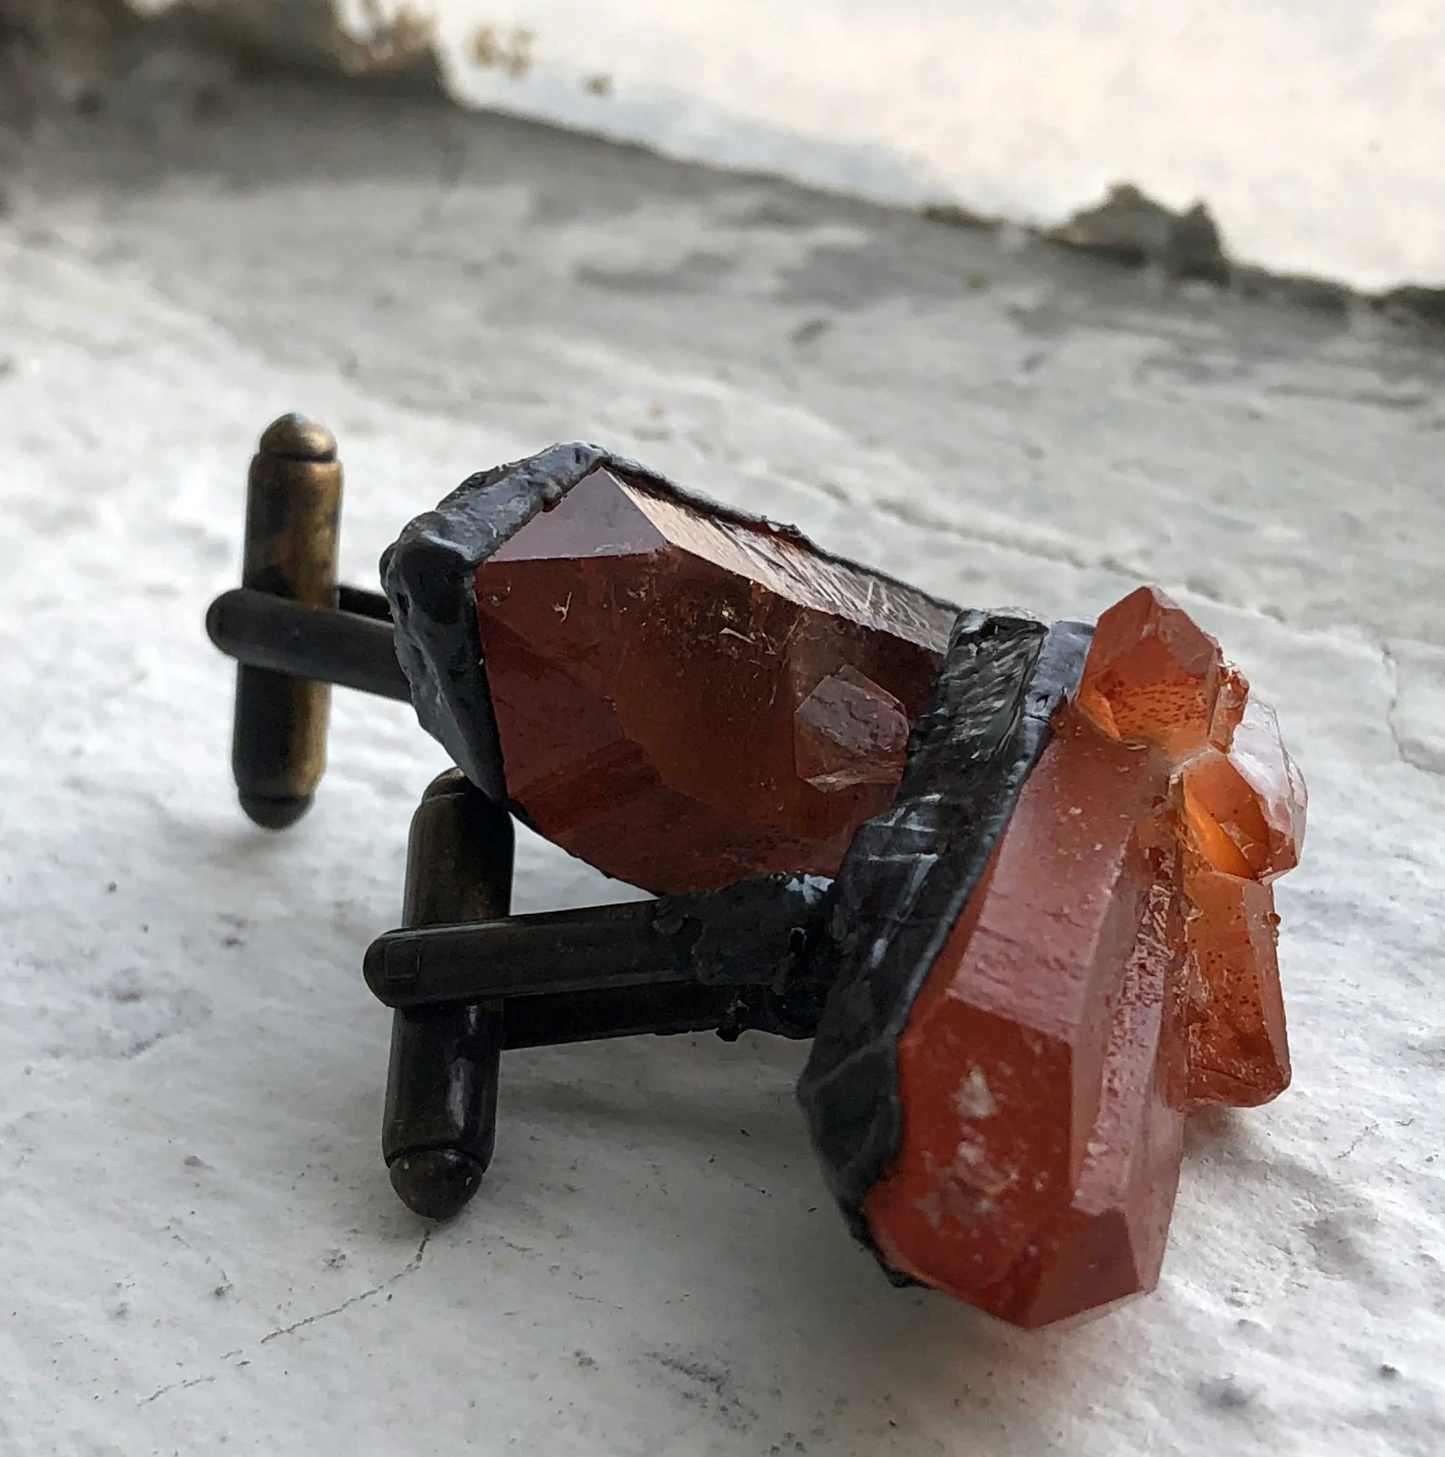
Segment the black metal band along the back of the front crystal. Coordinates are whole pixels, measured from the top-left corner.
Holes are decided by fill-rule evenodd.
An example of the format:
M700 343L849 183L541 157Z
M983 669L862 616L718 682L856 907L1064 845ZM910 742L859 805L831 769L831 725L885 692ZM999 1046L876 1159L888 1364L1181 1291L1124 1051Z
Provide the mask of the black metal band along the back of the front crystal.
M1092 631L963 613L913 726L897 800L858 830L829 893L814 975L830 989L798 1101L829 1189L874 1254L861 1203L903 1139L899 1037L1050 718L1078 686Z

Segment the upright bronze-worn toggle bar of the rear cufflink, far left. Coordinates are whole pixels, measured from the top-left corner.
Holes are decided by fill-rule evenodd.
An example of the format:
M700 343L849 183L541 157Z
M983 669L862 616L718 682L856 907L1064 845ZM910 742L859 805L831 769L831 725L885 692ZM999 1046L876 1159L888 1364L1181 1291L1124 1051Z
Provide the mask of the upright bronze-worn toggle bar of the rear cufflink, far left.
M246 492L242 586L329 608L336 590L341 462L325 425L283 415L261 437ZM326 769L326 683L236 669L232 769L242 809L286 829L310 807Z

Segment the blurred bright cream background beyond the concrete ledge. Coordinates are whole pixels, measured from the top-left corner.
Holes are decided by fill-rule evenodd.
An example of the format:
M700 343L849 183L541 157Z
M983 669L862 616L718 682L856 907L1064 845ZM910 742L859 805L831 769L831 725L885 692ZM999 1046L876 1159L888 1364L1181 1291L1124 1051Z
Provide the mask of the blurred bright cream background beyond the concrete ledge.
M93 54L125 3L0 0L0 28ZM1445 0L130 3L880 201L1047 224L1127 181L1273 270L1445 283Z

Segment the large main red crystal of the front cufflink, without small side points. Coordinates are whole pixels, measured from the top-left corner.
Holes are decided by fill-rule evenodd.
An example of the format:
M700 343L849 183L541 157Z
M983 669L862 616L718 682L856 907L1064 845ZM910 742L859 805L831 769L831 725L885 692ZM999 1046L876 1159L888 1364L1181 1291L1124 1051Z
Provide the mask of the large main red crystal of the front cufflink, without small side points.
M1141 949L1158 871L1138 830L1167 775L1071 710L1055 728L913 1004L906 1136L864 1202L890 1265L1021 1324L1152 1282L1173 1198L1141 1141L1180 1036L1157 985L1176 953Z

